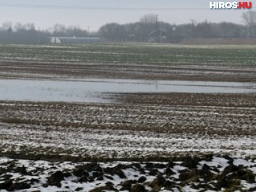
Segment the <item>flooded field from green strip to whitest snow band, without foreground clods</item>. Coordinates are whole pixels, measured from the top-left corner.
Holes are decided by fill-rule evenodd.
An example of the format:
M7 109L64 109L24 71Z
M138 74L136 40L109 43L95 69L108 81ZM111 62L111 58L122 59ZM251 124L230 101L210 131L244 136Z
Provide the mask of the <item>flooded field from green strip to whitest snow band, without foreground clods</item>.
M116 152L126 159L157 152L255 156L255 48L0 45L0 147L5 154L24 144L23 154L59 148L65 156Z

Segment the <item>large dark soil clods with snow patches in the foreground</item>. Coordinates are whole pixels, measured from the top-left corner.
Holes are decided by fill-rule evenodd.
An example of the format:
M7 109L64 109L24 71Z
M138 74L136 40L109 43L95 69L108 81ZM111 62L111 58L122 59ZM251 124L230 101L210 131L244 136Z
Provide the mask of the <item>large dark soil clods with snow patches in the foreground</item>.
M255 191L253 159L208 156L166 163L52 163L0 158L1 191Z

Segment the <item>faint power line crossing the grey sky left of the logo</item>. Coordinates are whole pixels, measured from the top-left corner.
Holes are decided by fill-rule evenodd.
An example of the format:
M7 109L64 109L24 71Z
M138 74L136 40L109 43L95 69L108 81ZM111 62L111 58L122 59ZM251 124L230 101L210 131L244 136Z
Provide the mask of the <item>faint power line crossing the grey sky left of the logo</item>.
M14 4L14 3L0 3L0 6L17 7L17 8L42 8L42 9L71 9L71 10L151 10L151 11L169 11L169 10L209 10L209 8L125 8L125 7L94 7L94 6L61 6L61 5L47 5L47 4Z

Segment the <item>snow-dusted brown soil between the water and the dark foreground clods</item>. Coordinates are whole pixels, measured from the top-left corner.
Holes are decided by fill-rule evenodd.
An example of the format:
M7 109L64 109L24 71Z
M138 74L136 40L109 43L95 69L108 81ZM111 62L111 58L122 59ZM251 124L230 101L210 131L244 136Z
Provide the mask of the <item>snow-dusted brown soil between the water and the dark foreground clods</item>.
M256 155L255 94L138 95L109 95L121 104L2 101L1 153L99 159Z

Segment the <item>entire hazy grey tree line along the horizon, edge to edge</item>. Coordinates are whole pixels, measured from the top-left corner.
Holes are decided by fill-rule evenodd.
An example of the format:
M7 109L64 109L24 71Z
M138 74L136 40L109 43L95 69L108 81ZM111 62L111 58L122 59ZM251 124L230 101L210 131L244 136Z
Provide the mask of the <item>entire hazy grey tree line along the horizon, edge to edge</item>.
M179 43L183 40L195 38L255 38L256 12L249 11L242 15L244 24L232 22L213 23L196 22L188 24L170 24L161 22L157 15L148 14L138 22L129 24L108 23L96 32L90 32L77 26L66 27L61 24L51 29L40 30L34 24L20 24L13 26L6 22L0 27L1 43L49 43L51 36L95 37L99 36L113 42L167 42Z

